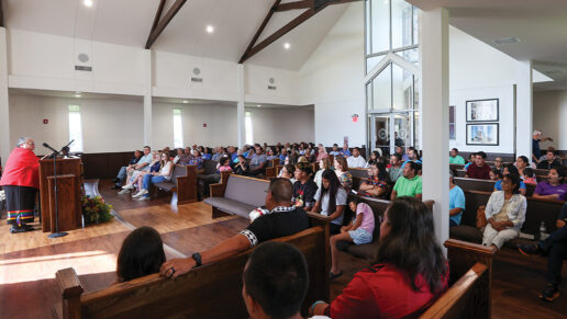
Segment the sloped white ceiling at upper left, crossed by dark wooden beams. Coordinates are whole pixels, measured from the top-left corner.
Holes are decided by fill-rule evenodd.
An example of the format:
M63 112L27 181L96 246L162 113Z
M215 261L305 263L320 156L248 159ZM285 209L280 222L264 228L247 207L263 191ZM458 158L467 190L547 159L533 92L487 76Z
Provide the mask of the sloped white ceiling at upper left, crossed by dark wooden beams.
M145 46L159 0L92 1L94 5L87 8L82 0L4 0L5 25L8 29ZM167 0L163 15L174 2ZM238 61L273 4L274 0L188 0L152 48ZM298 70L346 5L324 9L247 62ZM275 13L259 41L302 12ZM213 34L205 32L207 25L214 26ZM291 44L291 49L284 49L285 42Z

